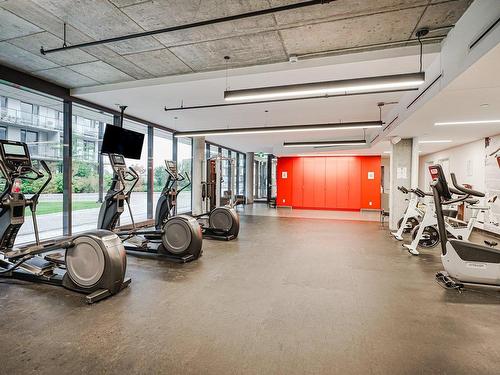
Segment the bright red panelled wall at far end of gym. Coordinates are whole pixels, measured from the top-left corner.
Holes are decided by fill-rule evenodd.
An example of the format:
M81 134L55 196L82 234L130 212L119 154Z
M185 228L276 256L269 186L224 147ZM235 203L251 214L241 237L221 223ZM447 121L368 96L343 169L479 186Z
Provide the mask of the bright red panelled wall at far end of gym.
M380 209L380 163L380 156L279 158L277 204L316 209ZM287 178L283 178L282 172L286 172ZM369 174L373 178L369 179Z

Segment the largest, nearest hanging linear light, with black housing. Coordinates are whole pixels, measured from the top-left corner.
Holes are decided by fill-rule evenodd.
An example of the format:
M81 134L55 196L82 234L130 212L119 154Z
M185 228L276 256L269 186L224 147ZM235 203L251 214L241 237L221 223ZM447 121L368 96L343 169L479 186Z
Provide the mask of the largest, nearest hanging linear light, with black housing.
M295 85L259 87L224 92L226 101L288 98L293 96L329 95L337 93L391 90L419 86L425 82L425 73L395 74L379 77L343 79L301 83Z

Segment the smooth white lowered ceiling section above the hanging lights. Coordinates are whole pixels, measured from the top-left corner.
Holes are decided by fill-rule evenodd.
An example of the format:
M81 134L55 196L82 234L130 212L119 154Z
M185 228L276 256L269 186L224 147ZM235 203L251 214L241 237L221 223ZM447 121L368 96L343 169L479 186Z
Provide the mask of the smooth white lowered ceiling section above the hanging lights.
M431 46L432 47L432 46ZM425 49L424 69L439 54ZM373 121L379 119L379 102L398 102L404 92L319 98L291 102L261 103L196 110L164 111L207 104L223 104L224 90L337 80L418 71L418 48L370 51L347 56L332 56L298 63L279 63L232 70L226 82L224 72L209 72L158 78L143 82L124 82L73 90L76 97L108 107L128 105L127 113L179 131L241 128L253 126L301 125L331 122ZM369 73L367 73L369 72ZM388 111L390 105L384 108ZM267 112L266 112L267 111ZM369 129L366 139L378 129ZM210 136L207 140L241 151L262 151L277 155L301 150L285 149L283 142L363 139L363 130L317 131ZM302 151L310 151L302 150Z

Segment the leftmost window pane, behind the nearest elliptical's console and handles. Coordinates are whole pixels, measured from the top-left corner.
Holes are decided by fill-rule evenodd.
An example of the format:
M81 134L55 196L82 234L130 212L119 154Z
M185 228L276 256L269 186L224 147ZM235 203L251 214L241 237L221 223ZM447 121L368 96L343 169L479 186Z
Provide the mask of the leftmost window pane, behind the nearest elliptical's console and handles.
M41 239L60 236L63 234L63 124L60 119L63 103L54 97L0 84L0 107L0 137L26 142L35 168L41 169L40 160L44 160L52 173L52 180L39 199L38 228ZM44 181L45 178L23 180L22 192L29 198ZM4 183L2 179L2 188ZM35 238L29 208L25 214L16 243Z

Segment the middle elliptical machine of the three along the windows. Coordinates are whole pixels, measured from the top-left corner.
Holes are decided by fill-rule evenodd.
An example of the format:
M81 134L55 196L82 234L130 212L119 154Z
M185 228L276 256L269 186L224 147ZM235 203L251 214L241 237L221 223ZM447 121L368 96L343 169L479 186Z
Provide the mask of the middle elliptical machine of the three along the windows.
M130 207L131 193L139 181L139 174L125 163L123 155L109 154L113 180L99 211L98 228L114 231L130 253L153 253L163 259L186 263L202 255L202 233L198 222L187 215L169 217L156 228L137 228ZM126 189L126 185L130 187ZM160 200L157 212L168 210L167 202ZM118 220L128 208L132 228L117 229Z

